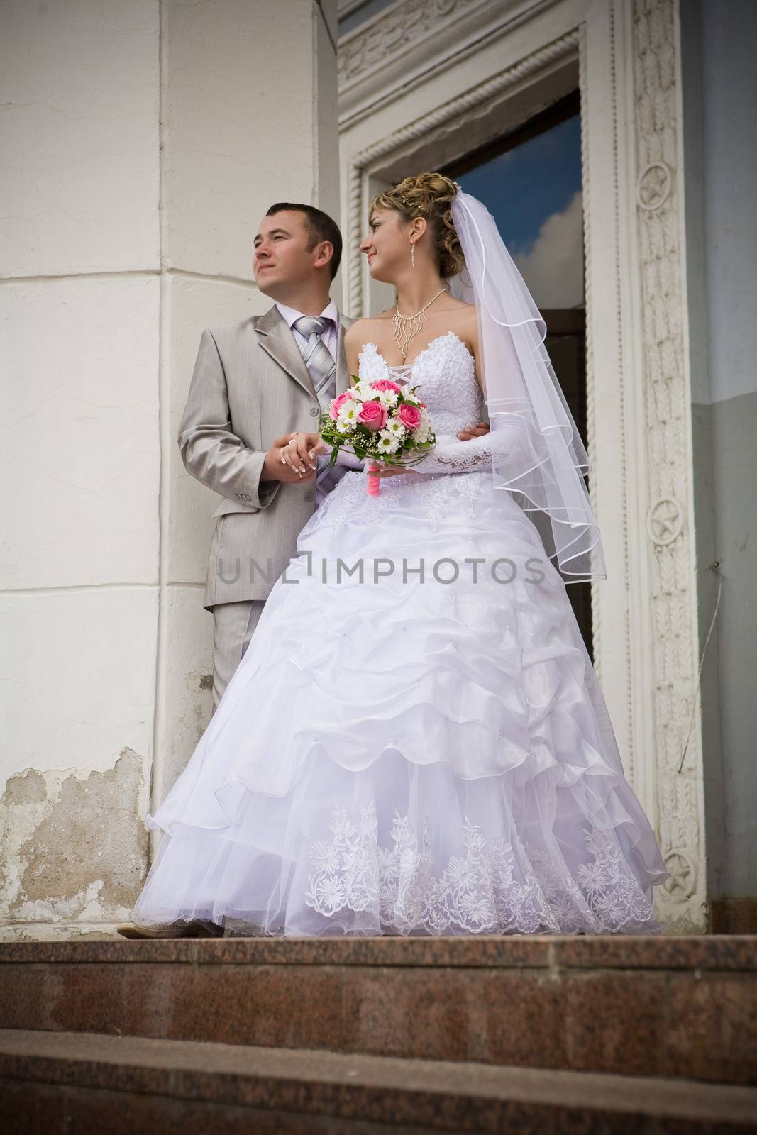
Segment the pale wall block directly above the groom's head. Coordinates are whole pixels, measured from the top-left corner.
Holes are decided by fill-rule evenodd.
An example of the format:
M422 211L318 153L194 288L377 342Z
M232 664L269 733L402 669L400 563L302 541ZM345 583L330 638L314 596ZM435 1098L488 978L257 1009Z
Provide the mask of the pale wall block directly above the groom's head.
M166 247L171 268L250 276L261 211L313 199L316 6L166 3Z

